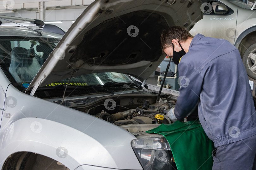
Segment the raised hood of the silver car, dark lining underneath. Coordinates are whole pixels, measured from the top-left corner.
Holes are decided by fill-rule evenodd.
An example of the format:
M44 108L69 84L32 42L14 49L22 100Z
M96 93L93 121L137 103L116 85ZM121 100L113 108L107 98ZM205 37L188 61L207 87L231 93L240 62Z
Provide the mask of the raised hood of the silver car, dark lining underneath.
M95 0L73 23L26 92L73 76L119 72L147 79L164 59L162 30L190 30L203 18L196 0Z

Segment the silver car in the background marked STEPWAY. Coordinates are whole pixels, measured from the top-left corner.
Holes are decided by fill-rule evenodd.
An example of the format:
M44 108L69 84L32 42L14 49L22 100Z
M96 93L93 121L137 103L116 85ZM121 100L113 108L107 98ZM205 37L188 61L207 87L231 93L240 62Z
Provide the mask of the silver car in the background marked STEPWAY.
M240 51L248 76L256 80L256 13L255 3L250 6L238 0L202 0L204 18L190 33L222 38Z

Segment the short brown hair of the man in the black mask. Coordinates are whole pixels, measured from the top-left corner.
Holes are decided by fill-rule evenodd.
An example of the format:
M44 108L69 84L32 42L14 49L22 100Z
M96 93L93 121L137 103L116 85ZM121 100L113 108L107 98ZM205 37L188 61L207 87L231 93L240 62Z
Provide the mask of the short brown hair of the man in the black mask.
M186 41L189 37L193 36L186 30L186 28L183 28L181 26L171 26L169 28L166 28L162 31L161 35L161 48L162 51L165 48L172 47L172 40L178 39L179 42ZM164 53L164 51L163 51Z

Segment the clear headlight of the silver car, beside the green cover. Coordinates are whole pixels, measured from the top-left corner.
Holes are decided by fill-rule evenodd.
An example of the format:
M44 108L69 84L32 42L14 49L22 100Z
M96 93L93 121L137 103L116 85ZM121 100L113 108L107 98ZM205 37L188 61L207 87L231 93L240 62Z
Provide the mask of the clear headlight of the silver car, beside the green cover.
M144 170L177 169L165 138L134 139L131 146Z

